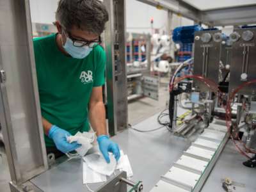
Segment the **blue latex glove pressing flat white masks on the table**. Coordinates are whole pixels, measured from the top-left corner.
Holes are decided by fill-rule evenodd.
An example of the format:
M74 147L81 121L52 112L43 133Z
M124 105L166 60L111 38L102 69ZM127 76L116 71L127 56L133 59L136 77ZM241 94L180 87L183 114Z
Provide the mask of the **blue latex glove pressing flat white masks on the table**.
M115 156L116 161L120 158L120 150L118 145L109 139L109 136L101 135L97 138L99 143L100 151L103 157L106 159L107 163L110 163L108 152L112 152Z

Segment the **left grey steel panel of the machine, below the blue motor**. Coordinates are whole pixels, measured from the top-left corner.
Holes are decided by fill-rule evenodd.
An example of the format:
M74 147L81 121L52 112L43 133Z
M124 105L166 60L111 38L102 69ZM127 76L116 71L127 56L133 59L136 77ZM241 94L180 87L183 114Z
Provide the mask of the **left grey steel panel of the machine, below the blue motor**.
M221 41L214 41L212 36L221 33L220 30L196 31L194 52L194 75L200 75L218 83ZM211 36L211 38L210 38ZM200 90L207 90L205 84L195 81Z

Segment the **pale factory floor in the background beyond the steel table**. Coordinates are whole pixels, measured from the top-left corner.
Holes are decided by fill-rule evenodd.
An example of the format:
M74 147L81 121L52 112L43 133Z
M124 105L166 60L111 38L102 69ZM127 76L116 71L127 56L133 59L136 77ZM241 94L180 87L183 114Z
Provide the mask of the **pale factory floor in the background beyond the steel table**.
M138 124L145 118L155 115L166 108L168 101L168 77L162 77L159 86L159 100L153 100L147 97L132 100L128 104L128 123L131 125ZM0 191L10 192L10 172L3 143L0 142Z

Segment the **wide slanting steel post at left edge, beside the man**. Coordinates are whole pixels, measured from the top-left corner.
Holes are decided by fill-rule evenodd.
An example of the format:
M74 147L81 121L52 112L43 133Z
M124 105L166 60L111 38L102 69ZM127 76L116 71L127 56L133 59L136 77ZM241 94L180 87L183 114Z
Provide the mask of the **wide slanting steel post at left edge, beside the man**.
M47 170L29 1L2 0L0 13L0 68L6 73L0 121L12 182L19 185Z

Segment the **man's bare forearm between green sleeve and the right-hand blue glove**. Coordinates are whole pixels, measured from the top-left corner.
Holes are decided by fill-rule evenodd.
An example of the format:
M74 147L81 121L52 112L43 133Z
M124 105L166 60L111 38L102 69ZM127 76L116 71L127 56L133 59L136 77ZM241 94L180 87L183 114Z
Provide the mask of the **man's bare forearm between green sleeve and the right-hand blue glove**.
M102 101L90 105L90 123L97 136L108 134L106 129L106 111Z

